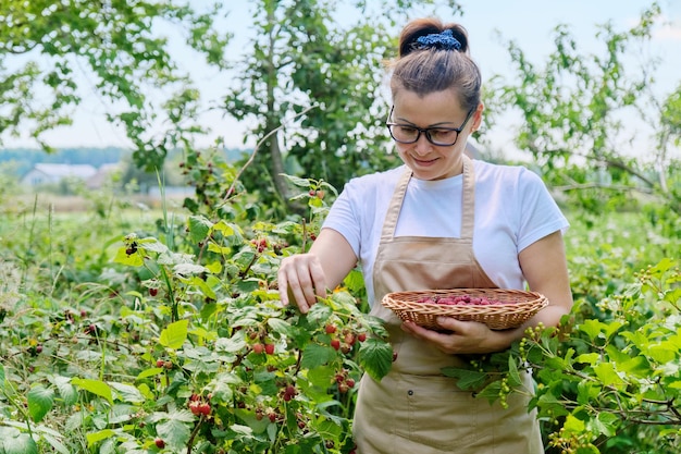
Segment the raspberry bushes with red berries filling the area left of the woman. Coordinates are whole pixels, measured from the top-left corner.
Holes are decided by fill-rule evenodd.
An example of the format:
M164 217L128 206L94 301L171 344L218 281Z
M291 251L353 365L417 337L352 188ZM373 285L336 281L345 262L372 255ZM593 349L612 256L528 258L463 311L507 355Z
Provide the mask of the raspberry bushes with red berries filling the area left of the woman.
M126 224L102 221L90 228L110 242L81 235L54 245L85 261L89 274L66 263L33 275L61 261L44 244L52 224L34 224L22 238L35 243L29 254L3 242L9 266L32 274L21 297L18 289L1 293L0 453L354 447L356 383L363 371L380 379L392 365L385 329L344 287L301 315L282 306L275 281L281 258L313 241L327 210L323 192L335 189L290 177L311 218L259 221L248 216L247 194L230 192L237 172L215 158L184 161L206 185L182 220L164 211L150 231L122 241L112 229Z

